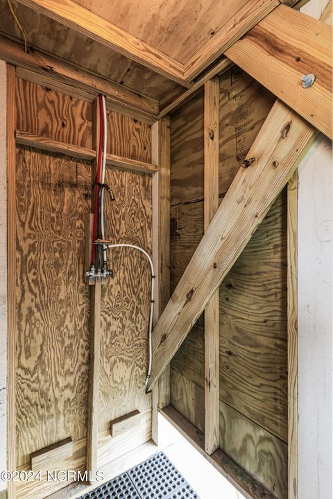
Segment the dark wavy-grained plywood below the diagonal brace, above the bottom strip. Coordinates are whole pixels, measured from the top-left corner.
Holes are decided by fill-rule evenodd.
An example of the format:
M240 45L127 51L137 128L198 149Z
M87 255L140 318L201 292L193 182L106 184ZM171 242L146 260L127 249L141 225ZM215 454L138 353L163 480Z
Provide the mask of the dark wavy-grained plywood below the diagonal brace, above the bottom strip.
M198 204L198 203L196 203ZM220 399L287 442L287 198L283 192L220 287ZM171 362L204 387L203 328Z

